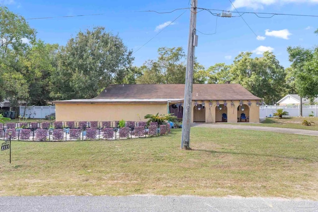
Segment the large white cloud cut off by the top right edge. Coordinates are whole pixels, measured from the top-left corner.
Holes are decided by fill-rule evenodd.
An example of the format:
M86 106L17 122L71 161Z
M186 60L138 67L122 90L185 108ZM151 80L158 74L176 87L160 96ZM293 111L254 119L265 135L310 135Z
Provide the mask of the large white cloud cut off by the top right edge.
M264 6L269 6L269 5L283 5L283 4L288 4L288 3L317 3L318 0L235 0L233 2L234 6L238 8L252 8L252 9L263 9ZM231 5L231 9L234 9L234 7Z

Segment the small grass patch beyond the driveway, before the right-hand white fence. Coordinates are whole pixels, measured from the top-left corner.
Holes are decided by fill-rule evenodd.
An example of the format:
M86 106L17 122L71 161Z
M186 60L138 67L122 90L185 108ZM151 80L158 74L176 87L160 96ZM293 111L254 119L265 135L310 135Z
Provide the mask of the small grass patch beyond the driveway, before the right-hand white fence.
M312 126L304 126L302 125L304 120L313 121L315 124L312 124ZM248 124L248 123L246 124L243 123L243 124L255 126L255 124ZM290 117L290 118L282 118L282 119L266 118L265 121L263 121L261 124L258 124L257 126L318 131L318 118L317 117Z

